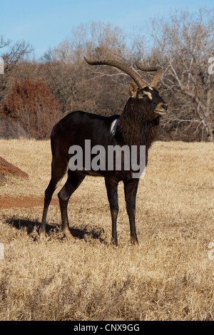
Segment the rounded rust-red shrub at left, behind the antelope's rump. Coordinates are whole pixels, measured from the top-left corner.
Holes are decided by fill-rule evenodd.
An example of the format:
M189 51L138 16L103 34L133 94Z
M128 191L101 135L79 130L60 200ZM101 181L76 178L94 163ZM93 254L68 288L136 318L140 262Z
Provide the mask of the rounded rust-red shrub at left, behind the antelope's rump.
M15 82L1 115L9 120L19 120L22 127L36 139L48 138L51 128L60 117L56 102L44 81L26 79Z

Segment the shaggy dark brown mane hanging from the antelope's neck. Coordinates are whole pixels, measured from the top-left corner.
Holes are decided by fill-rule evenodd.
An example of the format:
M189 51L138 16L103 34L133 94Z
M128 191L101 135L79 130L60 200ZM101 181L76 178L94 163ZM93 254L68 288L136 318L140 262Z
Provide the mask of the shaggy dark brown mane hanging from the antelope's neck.
M140 99L129 98L118 122L118 138L128 145L146 145L146 150L158 135L160 118L151 118Z

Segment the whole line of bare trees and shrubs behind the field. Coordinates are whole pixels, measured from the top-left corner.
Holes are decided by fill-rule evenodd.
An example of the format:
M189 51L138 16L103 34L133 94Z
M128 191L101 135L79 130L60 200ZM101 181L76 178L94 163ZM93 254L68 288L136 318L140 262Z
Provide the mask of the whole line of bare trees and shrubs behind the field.
M160 140L213 141L213 14L207 9L197 14L174 11L167 20L151 20L147 35L141 29L126 36L117 26L101 22L81 25L39 60L26 57L32 53L29 43L13 44L1 36L5 68L0 117L19 120L31 137L45 139L72 110L120 114L131 78L116 68L88 66L83 56L117 58L135 69L135 61L163 68L158 90L169 111ZM150 83L154 73L141 76Z

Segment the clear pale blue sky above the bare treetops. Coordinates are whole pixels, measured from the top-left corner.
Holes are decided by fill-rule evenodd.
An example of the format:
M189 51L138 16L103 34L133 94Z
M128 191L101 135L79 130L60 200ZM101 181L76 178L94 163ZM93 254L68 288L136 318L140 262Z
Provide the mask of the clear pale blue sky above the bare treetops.
M31 43L37 58L80 24L101 21L129 33L173 9L192 12L201 6L213 9L213 0L0 0L0 36Z

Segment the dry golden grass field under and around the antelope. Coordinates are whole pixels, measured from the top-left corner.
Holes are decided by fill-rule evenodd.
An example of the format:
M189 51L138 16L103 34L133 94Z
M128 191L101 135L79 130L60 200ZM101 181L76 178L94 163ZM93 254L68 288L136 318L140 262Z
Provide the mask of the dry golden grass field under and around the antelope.
M50 143L0 140L0 155L29 174L0 187L0 319L213 320L213 149L213 143L155 143L138 188L139 244L130 244L120 184L113 247L101 177L86 177L69 202L75 242L63 238L56 191L46 242L39 243Z

